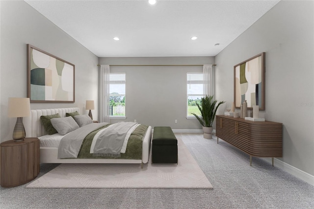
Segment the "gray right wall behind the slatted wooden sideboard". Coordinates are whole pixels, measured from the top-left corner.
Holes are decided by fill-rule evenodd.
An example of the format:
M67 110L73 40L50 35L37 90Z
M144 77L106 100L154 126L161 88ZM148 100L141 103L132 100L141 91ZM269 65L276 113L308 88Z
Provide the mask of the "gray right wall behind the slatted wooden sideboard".
M280 1L215 57L216 98L234 95L234 65L266 52L266 120L283 123L280 160L314 175L314 1Z

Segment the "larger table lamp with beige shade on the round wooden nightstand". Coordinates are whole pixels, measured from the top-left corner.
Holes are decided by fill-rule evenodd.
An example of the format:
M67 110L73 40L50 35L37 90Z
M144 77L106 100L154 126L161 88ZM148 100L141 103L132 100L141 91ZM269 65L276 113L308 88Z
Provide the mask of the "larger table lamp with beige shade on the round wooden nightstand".
M9 98L8 100L8 117L17 117L13 130L13 139L23 141L26 137L23 125L23 117L30 116L29 98Z

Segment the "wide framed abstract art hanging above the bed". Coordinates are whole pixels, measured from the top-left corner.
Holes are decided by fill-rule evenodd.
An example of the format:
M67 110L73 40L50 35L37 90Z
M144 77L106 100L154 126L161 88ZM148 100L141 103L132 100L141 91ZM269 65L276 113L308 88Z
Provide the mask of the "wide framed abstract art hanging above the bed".
M27 97L31 103L74 103L75 65L27 44Z

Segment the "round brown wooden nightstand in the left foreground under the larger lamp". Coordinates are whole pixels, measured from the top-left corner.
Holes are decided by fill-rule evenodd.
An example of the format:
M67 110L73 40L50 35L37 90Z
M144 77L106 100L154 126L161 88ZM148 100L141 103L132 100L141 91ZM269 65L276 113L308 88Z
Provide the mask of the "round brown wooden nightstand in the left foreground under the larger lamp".
M3 187L18 186L35 179L40 170L39 139L5 141L1 147L1 181Z

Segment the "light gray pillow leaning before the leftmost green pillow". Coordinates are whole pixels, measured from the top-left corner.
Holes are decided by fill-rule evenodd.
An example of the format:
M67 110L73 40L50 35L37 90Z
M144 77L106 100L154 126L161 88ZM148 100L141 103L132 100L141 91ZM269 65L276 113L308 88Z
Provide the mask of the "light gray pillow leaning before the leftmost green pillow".
M53 120L52 120L53 119ZM52 118L51 124L55 130L61 135L65 135L68 132L74 131L79 128L73 117Z

